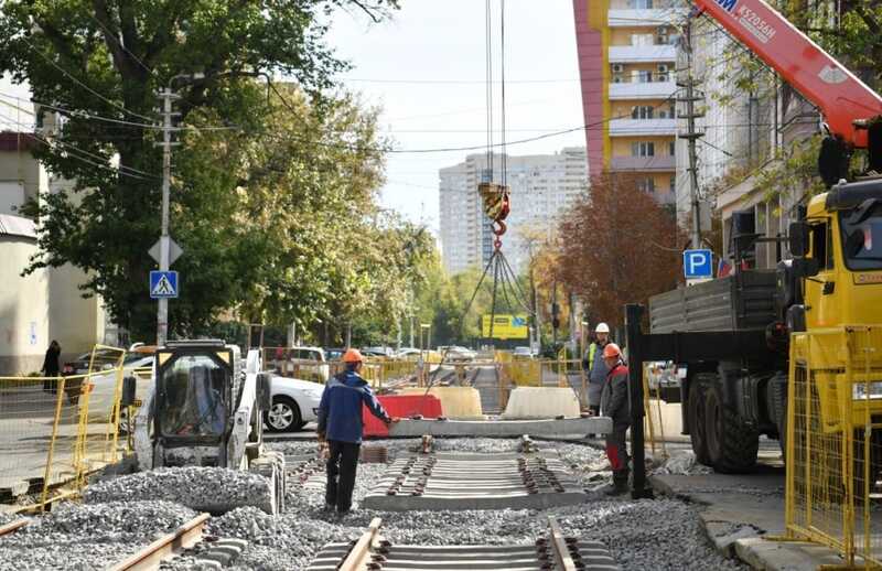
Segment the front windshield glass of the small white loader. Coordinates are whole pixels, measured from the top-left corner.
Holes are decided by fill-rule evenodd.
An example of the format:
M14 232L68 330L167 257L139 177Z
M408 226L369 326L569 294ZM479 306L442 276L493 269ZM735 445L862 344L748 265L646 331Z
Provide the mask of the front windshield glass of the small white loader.
M162 375L162 432L169 437L213 437L226 419L224 369L205 356L181 357Z

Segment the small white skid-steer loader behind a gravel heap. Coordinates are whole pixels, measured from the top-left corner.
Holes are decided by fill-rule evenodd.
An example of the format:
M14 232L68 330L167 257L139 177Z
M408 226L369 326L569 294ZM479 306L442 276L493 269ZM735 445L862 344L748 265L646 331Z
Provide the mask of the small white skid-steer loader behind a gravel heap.
M175 341L159 347L154 383L135 422L140 470L216 466L258 473L284 503L284 456L263 445L263 412L271 406L271 376L260 351L245 358L219 340Z

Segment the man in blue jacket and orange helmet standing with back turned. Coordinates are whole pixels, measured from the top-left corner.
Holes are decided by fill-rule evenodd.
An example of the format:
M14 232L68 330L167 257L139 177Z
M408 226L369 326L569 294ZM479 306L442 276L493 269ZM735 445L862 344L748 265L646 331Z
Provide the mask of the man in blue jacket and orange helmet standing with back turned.
M332 377L319 403L319 442L327 443L327 486L325 510L336 509L338 516L349 511L358 452L362 448L364 423L362 406L386 424L398 422L379 403L370 386L358 374L364 357L358 349L347 349L343 355L346 370Z

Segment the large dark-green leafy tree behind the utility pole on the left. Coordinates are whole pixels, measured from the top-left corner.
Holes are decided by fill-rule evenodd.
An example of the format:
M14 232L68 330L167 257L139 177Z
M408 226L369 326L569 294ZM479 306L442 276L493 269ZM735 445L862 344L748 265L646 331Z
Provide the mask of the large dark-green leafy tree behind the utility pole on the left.
M178 74L203 73L180 88L182 123L192 125L204 111L225 120L215 127L249 131L263 125L254 78L281 74L297 80L321 110L322 93L346 67L324 44L327 25L319 22L335 7L356 7L380 19L397 0L4 2L0 73L26 79L41 114L62 117L57 132L44 138L35 154L54 174L76 181L75 196L55 194L31 206L30 214L40 215L43 254L30 271L71 262L88 272L82 288L100 294L120 325L137 337L154 331L144 289L153 267L146 252L159 236L155 91ZM179 170L176 177L175 197L186 188L194 206L224 211L233 202L219 185L202 194L204 181L196 173ZM228 286L200 292L176 310L173 304L178 331L198 325L213 308L245 290L230 281L238 262L229 252L220 256L228 237L218 241L217 234L223 233L203 233L202 240L182 244L183 287L202 277L200 284ZM245 245L232 250L248 255Z

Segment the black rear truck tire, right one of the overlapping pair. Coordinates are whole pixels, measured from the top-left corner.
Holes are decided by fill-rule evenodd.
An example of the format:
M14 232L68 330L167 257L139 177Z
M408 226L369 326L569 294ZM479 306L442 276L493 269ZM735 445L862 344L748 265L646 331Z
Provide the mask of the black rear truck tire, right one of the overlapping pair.
M751 471L760 450L760 432L725 407L716 376L704 390L704 414L708 456L713 470L722 474Z

